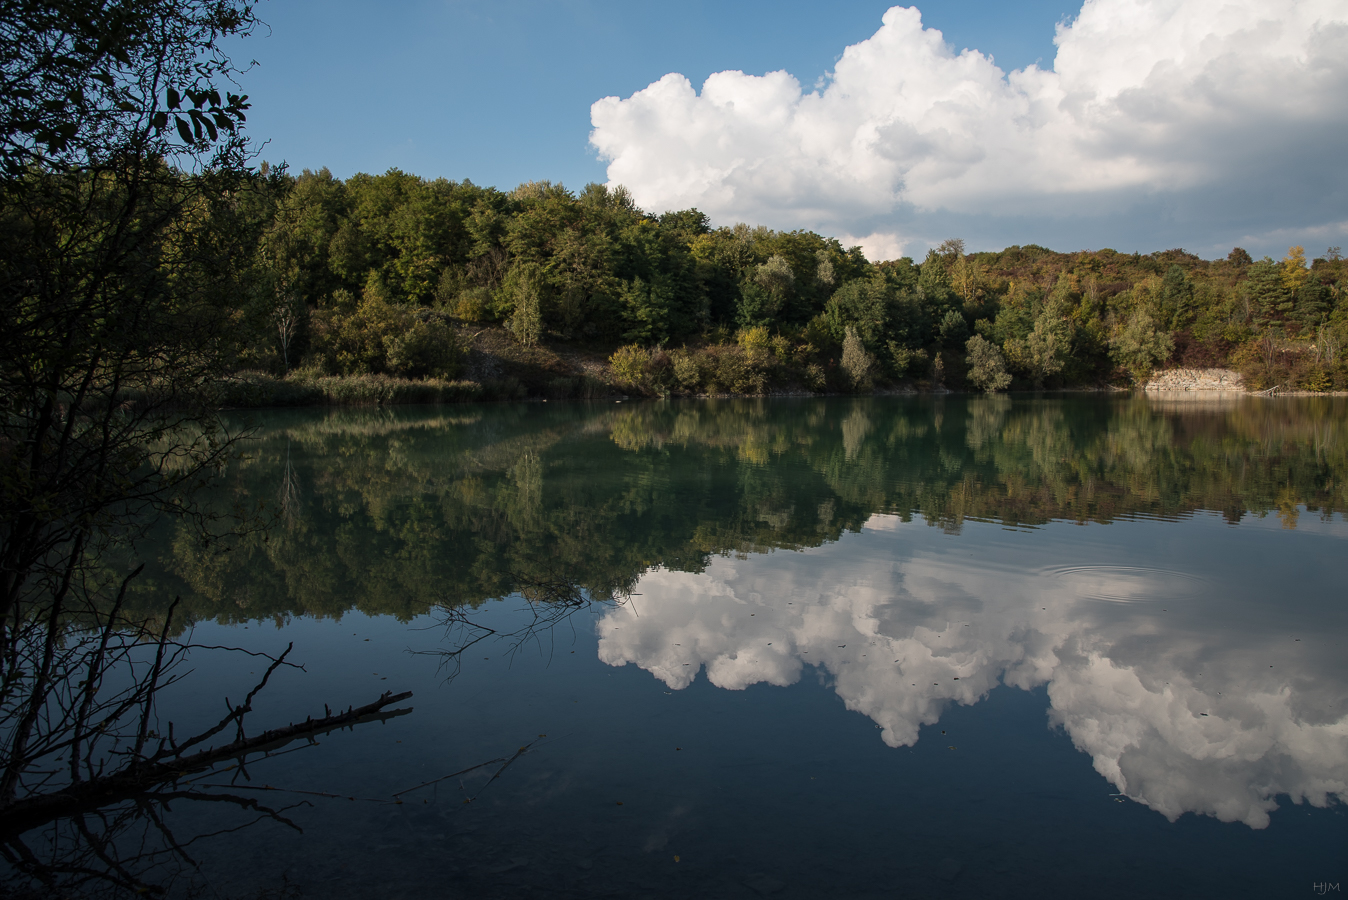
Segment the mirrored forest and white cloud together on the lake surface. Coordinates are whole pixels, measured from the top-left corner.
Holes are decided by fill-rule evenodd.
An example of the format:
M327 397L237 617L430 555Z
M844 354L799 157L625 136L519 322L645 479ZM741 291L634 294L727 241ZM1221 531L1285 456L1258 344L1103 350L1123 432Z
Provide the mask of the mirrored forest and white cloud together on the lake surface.
M1043 687L1120 795L1262 829L1348 794L1345 430L1341 399L1256 397L278 414L221 494L276 525L166 535L128 605L439 610L443 675L499 637L492 600L537 601L526 637L601 601L603 662L671 691L818 672L894 748Z

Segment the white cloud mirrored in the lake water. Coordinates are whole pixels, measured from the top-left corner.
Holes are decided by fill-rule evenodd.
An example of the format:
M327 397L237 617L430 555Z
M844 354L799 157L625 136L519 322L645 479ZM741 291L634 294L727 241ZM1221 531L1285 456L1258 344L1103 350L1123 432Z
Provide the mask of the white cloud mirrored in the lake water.
M1180 525L1109 528L1128 527L1169 528L1162 540L1174 542ZM1221 525L1182 527L1201 539ZM1262 829L1279 795L1320 807L1348 799L1341 635L1289 635L1305 616L1274 593L1286 594L1275 566L1251 554L1216 569L1205 559L1204 575L1103 543L1117 531L1095 528L1065 548L981 528L941 543L936 529L875 516L864 534L820 548L718 558L702 574L651 571L636 609L600 618L600 659L634 663L671 690L700 670L743 690L795 683L814 666L894 748L917 742L952 702L1046 686L1050 724L1117 791L1171 821L1196 812ZM1329 587L1328 573L1312 573L1298 594L1313 598L1317 578Z

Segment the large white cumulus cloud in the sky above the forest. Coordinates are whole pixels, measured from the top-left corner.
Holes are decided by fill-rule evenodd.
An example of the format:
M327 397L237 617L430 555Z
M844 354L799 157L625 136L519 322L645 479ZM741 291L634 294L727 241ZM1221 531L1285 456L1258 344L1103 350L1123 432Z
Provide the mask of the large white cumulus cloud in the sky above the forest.
M816 90L671 73L597 101L592 143L647 209L876 255L952 230L1256 252L1348 232L1348 0L1086 0L1055 43L1051 69L1004 73L894 7Z

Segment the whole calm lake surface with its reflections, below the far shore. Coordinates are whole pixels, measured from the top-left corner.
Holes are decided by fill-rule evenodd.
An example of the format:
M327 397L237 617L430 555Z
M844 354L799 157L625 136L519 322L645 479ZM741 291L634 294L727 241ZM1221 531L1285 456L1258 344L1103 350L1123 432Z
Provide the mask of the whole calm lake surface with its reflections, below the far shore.
M240 419L240 423L243 420ZM287 662L175 891L1282 897L1348 881L1348 403L907 396L252 416L131 604ZM267 660L198 649L179 733ZM280 819L284 821L280 821ZM185 845L186 846L186 845ZM1329 885L1329 887L1326 887ZM1330 891L1332 888L1332 891Z

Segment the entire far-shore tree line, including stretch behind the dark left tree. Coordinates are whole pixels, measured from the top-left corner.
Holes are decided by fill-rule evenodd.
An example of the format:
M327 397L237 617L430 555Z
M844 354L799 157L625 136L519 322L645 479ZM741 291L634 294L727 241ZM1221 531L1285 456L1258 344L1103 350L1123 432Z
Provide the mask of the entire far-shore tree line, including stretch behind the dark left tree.
M136 322L116 335L146 345L128 353L209 358L198 381L313 384L483 381L492 366L470 357L488 333L501 338L495 357L545 360L550 377L527 388L551 396L594 391L553 377L577 373L558 352L604 362L608 388L647 395L1123 387L1171 365L1235 368L1254 388L1348 388L1339 248L1204 260L1034 244L968 253L948 240L921 261L872 263L809 230L648 214L604 185L500 191L398 170L342 181L266 163L182 172L162 159L139 162L137 178L15 176L24 190L0 210L20 251L5 278L19 294L9 334L100 341ZM125 209L140 218L116 218ZM136 261L116 279L104 259L44 249L97 248L109 229L136 251L115 257ZM111 290L71 311L44 296L62 282L67 294ZM93 321L67 321L85 306L98 307Z

